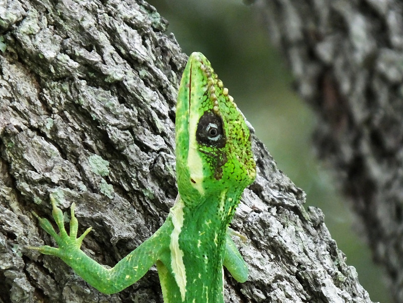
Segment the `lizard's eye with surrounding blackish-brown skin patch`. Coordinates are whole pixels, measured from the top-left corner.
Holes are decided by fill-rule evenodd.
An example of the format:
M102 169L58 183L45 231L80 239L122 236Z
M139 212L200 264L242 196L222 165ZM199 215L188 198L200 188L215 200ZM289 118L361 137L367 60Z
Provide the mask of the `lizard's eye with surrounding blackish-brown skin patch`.
M225 136L221 116L211 111L205 112L197 124L196 140L201 144L223 147Z

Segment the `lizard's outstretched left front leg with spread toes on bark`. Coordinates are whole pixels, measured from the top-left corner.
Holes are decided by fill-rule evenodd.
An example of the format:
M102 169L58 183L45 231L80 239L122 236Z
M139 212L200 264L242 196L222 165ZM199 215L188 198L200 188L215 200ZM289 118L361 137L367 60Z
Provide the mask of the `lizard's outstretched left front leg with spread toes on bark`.
M40 218L40 226L56 241L58 248L50 246L29 247L42 254L59 257L81 276L86 282L99 291L111 294L118 292L135 283L153 266L166 251L164 237L168 234L169 223L164 223L149 239L120 260L114 267L106 268L87 256L81 249L84 237L91 231L91 227L77 238L78 221L75 217L75 203L71 206L70 235L66 232L63 223L63 213L56 206L55 199L50 195L53 218L60 230L57 234L47 219Z

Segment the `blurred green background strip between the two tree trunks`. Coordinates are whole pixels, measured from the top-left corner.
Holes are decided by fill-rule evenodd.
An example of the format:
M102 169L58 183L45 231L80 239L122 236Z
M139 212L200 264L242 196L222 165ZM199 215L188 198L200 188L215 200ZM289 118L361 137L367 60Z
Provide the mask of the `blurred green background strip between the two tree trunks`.
M332 187L311 145L315 116L291 88L285 58L268 40L256 12L240 0L150 0L166 18L182 50L203 52L257 136L294 183L307 205L320 207L347 263L357 269L373 301L391 302L383 272L371 261L356 218Z

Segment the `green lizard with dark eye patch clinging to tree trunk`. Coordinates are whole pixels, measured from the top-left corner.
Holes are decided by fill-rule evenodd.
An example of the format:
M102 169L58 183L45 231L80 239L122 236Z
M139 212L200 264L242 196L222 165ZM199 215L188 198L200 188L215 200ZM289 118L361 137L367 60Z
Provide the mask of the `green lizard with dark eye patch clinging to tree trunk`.
M47 219L35 216L58 248L34 249L59 257L106 294L135 283L156 264L165 303L223 303L223 266L239 282L248 275L227 229L256 170L243 115L199 52L190 55L179 86L176 175L179 194L164 224L113 268L81 251L91 227L77 238L73 203L69 235L52 195L52 214L60 233Z

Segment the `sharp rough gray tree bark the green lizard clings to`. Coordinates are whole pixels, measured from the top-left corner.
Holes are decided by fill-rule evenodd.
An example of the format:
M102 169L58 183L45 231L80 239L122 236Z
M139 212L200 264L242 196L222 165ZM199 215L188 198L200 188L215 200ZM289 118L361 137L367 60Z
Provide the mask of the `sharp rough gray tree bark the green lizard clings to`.
M175 98L186 61L147 3L64 0L0 7L0 302L162 302L156 270L104 295L52 256L32 216L49 194L77 204L83 250L113 266L164 221L177 190ZM228 302L371 302L319 209L255 137L258 177L232 227L249 280ZM237 239L236 239L237 240Z

